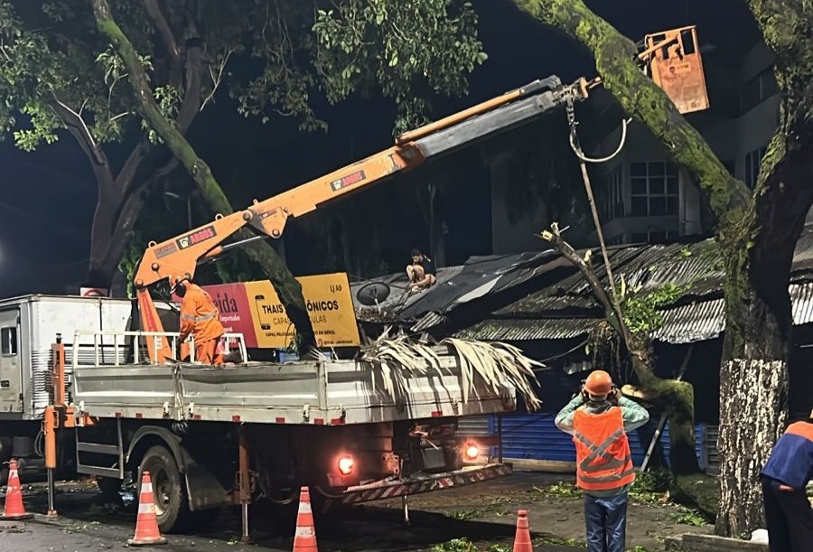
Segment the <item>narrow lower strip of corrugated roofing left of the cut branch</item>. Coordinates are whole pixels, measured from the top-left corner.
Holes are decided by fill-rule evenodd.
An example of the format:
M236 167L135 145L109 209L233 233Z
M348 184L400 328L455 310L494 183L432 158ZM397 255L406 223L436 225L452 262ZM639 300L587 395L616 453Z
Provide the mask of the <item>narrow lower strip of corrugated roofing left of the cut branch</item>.
M546 318L541 320L483 320L455 334L484 341L534 341L571 339L584 335L597 318Z

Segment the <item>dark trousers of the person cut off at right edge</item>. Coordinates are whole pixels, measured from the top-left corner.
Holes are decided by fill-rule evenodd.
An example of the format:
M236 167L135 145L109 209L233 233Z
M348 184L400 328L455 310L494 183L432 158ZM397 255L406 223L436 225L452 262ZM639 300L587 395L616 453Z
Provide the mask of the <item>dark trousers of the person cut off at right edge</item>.
M780 484L762 477L771 552L813 552L813 510L805 490L781 491Z

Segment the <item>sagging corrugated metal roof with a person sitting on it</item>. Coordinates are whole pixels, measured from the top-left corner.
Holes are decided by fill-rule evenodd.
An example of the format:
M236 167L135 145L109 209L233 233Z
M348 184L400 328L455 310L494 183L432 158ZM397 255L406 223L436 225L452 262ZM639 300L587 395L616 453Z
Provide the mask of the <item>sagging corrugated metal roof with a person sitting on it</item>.
M584 252L580 254L584 256ZM661 309L663 323L653 332L654 339L689 343L714 339L724 331L724 271L713 239L611 248L609 257L613 276L616 281L623 277L628 294L646 294L664 285L685 288L672 304ZM593 248L593 267L606 286L597 248ZM536 291L491 313L481 313L478 320L470 321L471 325L455 335L486 341L582 337L603 319L603 310L581 273L554 250L472 257L463 267L440 269L438 284L425 292L393 294L380 309L357 304L357 313L361 321L399 322L412 332L424 332L453 317L454 309L461 304L532 282L552 274L556 268L570 270L562 271L563 276L554 281L540 278ZM400 282L406 287L406 274L390 275L379 281L395 285ZM354 300L361 285L351 286ZM805 229L797 243L790 298L794 323L813 323L813 227Z

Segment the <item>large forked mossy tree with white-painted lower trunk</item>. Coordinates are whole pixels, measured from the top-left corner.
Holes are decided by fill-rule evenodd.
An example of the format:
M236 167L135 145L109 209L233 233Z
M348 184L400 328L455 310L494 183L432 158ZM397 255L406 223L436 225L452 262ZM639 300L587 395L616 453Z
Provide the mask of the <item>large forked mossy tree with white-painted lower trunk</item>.
M781 97L779 127L751 192L640 71L633 42L582 0L514 2L590 51L605 88L649 127L706 194L726 273L717 532L739 536L756 529L762 519L759 470L787 409L791 260L813 204L813 5L748 2L776 56Z

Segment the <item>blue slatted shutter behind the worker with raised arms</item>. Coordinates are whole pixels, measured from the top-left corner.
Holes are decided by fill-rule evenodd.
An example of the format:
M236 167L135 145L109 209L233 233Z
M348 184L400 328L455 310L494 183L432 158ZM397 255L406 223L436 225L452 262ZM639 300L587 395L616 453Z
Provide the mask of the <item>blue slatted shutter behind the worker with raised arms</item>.
M556 427L554 424L555 418L556 415L552 413L502 416L503 456L524 460L575 462L575 446L572 437ZM649 442L658 427L658 422L659 419L650 419L649 424L629 435L632 462L635 465L639 466L643 462ZM493 435L496 435L497 424L492 421L490 426ZM698 458L701 458L702 433L702 426L696 426L695 438ZM653 456L662 454L663 463L668 464L668 424L664 427L659 441L660 450L656 447Z

